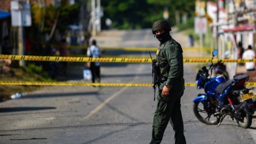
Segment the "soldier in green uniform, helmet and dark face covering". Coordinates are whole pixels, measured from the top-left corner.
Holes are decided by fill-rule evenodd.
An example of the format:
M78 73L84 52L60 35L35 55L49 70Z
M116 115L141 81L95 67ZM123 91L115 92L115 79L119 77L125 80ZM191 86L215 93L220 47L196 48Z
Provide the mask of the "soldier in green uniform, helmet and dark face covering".
M185 90L183 78L182 48L170 35L171 26L166 20L154 22L152 32L160 42L156 53L158 69L163 74L158 85L157 108L154 114L152 139L150 144L161 143L167 124L171 123L175 132L175 143L186 143L183 134L183 120L180 99ZM162 74L161 74L162 75ZM159 76L158 76L159 77Z

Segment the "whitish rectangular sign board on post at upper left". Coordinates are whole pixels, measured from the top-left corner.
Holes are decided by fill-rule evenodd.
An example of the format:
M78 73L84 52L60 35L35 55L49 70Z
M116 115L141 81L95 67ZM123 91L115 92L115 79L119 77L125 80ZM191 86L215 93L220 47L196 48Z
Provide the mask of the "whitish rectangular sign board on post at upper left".
M12 26L31 26L29 2L11 1Z

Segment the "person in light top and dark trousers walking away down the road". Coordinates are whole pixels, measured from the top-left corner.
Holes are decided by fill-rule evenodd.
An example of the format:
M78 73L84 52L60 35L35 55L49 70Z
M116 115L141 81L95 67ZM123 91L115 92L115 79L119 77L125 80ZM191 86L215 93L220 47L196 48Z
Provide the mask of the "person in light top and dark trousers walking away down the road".
M87 49L87 56L90 58L100 58L101 50L97 46L97 42L95 39L92 40L92 46ZM100 83L100 62L89 62L87 65L91 69L92 73L92 83L95 83L95 79L98 83ZM87 63L88 64L88 63Z

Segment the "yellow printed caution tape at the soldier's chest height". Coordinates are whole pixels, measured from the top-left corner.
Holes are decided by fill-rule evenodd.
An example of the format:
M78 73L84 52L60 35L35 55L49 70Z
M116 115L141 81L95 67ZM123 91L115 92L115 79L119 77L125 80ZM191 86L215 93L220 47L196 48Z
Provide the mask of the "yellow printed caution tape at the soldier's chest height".
M27 60L27 61L69 61L69 62L121 62L121 63L151 63L149 58L89 58L89 57L51 57L36 55L4 55L0 59ZM256 59L213 59L212 62L256 62ZM211 59L183 59L186 63L207 63Z

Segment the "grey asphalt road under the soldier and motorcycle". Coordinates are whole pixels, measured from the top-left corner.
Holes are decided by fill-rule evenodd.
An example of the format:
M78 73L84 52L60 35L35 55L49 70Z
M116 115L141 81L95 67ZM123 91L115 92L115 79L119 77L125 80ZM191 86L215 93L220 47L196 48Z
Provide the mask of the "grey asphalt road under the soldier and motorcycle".
M172 35L186 45L185 35ZM150 30L103 32L97 39L103 46L158 45ZM186 82L194 82L195 67L185 65ZM103 83L151 83L150 64L102 63L101 70ZM81 79L82 71L73 81ZM0 103L0 143L149 143L156 108L153 92L151 87L45 86ZM181 99L187 143L255 143L255 120L251 129L237 127L228 118L219 127L199 122L192 110L198 93L202 91L186 87ZM168 125L162 143L174 143L173 137Z

